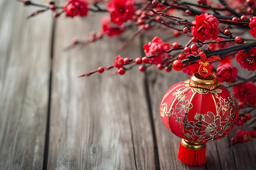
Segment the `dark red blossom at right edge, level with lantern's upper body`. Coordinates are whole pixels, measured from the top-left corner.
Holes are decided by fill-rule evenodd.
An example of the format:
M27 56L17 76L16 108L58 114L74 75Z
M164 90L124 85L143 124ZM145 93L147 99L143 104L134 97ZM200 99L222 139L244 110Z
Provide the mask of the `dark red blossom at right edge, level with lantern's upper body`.
M256 103L256 85L253 82L243 83L233 87L234 96L240 102L248 102L249 105Z

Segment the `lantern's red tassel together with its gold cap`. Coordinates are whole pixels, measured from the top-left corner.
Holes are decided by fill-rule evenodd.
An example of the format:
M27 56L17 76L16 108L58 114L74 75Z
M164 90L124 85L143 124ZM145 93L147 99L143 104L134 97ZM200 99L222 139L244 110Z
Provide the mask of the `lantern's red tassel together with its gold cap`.
M203 165L206 162L205 153L205 144L182 139L180 142L178 159L190 166Z

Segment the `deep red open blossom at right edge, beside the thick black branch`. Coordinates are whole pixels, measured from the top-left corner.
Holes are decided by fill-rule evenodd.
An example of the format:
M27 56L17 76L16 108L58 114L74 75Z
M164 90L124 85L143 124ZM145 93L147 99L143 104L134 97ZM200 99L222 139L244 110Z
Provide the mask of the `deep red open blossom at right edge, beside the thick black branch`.
M238 51L236 55L236 61L242 68L247 68L248 71L256 70L256 47L252 48L247 53Z

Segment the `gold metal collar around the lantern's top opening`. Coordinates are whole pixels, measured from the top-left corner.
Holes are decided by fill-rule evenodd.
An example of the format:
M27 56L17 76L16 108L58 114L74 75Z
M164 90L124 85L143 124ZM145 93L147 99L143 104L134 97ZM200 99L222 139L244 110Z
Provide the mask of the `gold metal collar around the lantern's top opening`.
M193 74L193 76L189 80L189 86L204 88L207 90L213 90L218 87L218 79L214 74L210 74L207 77L203 77L198 73Z

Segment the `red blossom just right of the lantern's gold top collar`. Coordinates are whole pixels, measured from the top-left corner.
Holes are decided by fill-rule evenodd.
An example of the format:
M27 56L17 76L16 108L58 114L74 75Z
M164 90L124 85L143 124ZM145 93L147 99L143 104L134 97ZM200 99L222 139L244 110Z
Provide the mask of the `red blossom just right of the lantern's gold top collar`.
M238 69L232 64L219 64L216 69L219 82L234 82L237 77Z

